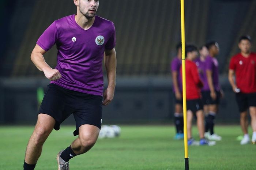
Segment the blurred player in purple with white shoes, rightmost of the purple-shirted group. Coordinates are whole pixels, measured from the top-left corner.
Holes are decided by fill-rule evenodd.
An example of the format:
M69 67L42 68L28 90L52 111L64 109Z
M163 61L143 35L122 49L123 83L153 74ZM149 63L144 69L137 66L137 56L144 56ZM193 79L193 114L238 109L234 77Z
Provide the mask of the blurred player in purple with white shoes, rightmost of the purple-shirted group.
M209 140L221 140L221 136L214 133L214 119L218 112L220 98L223 95L219 84L218 61L215 58L219 54L219 45L216 41L206 44L209 55L205 59L207 81L202 89L204 105L207 105L205 137ZM208 132L210 130L210 133Z

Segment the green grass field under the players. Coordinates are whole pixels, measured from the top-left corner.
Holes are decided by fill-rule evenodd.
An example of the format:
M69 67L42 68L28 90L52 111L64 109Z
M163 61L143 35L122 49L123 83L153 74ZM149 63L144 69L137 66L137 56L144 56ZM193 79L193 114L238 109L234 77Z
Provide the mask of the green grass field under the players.
M71 170L184 170L184 142L173 140L173 126L120 126L121 136L100 139L86 154L70 160ZM46 140L35 170L57 170L57 152L69 146L74 127L62 126ZM23 170L33 127L0 126L0 170ZM215 146L190 146L190 170L255 170L256 145L241 146L240 126L217 126ZM250 132L251 134L251 132ZM193 128L198 140L197 128Z

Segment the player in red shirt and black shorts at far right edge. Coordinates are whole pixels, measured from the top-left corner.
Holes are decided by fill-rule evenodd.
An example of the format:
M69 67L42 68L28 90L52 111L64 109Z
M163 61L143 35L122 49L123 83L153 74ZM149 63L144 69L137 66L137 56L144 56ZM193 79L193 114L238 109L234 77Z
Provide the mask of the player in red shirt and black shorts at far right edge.
M256 143L256 53L251 52L251 37L242 36L238 47L241 53L236 54L230 60L229 82L236 93L236 100L240 112L240 125L244 138L240 144L248 144L247 110L249 108L252 126L252 143ZM236 82L234 80L236 76Z

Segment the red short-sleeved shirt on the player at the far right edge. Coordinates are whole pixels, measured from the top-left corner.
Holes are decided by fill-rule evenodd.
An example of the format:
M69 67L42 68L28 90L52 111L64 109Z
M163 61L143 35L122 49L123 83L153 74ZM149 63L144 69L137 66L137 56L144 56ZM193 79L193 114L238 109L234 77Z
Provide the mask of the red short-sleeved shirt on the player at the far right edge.
M230 60L229 69L235 71L237 87L241 92L256 92L256 53L247 58L241 53L236 54Z

